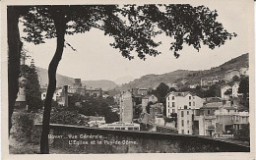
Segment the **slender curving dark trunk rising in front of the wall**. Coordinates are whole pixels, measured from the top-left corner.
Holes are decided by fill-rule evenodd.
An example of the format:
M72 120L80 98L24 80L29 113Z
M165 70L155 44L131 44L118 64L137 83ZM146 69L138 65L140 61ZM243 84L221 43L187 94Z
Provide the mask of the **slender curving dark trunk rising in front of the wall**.
M65 36L65 30L66 30L65 17L62 12L55 11L53 15L53 20L54 20L54 25L55 25L56 34L57 34L57 48L48 67L49 81L48 81L47 94L44 102L42 132L41 132L41 138L40 138L41 154L49 154L48 134L49 134L51 102L52 102L54 91L56 89L56 71L63 53L64 40L65 40L64 36Z

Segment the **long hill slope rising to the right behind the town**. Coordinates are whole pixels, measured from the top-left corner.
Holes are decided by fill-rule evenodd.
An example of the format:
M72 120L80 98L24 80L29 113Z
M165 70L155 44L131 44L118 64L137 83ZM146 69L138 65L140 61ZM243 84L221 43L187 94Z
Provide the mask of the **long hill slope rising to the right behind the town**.
M224 73L231 69L240 69L248 68L248 53L243 54L239 57L231 59L230 61L225 62L219 67L212 68L211 70L203 71L188 71L188 70L177 70L162 75L146 75L140 79L133 80L129 83L125 83L116 89L119 90L128 90L132 87L156 87L160 82L164 83L173 83L180 80L187 80L190 83L200 83L201 79L207 79L210 77L218 76L219 78L224 78Z

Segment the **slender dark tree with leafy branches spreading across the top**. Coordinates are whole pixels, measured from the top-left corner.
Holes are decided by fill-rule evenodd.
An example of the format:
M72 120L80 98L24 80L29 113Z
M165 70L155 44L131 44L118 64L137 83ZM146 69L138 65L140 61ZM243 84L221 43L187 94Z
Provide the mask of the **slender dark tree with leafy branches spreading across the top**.
M13 9L19 7L13 7ZM217 11L211 11L205 6L32 6L29 11L23 15L24 31L28 32L25 40L39 44L44 42L45 38L57 38L56 51L48 68L49 85L44 103L41 153L49 152L47 134L49 133L51 100L56 87L56 70L65 43L69 45L65 42L65 34L83 33L92 27L101 29L105 35L114 38L114 42L110 45L119 49L121 55L129 60L134 58L131 55L134 51L143 60L146 59L146 55L159 55L160 52L156 47L160 45L160 42L156 42L154 37L160 33L174 38L174 41L170 43L170 50L173 51L176 58L179 57L178 52L183 49L184 44L193 46L197 50L201 48L202 44L214 49L216 46L223 45L232 36L236 36L235 33L227 32L223 25L216 21ZM9 15L10 18L11 15ZM19 19L20 15L17 17ZM8 21L8 25L18 28L17 17L15 17L15 21ZM17 30L15 29L15 31ZM15 38L20 40L19 30L15 35ZM8 35L8 38L10 37ZM19 53L19 40L8 43L9 48L12 44L18 48L15 51L9 51L9 56ZM19 54L17 55L19 56ZM16 57L13 59L17 60ZM12 64L11 60L9 62ZM14 83L18 82L14 81ZM14 94L17 94L17 91ZM10 103L13 101L10 99Z

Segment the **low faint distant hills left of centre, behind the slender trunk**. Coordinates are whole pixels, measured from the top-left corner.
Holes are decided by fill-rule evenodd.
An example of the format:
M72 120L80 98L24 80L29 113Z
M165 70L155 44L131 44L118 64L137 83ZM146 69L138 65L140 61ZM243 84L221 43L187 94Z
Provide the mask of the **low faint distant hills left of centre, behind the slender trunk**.
M36 67L36 70L39 76L41 87L46 86L48 83L48 71L39 67ZM75 79L73 78L57 74L57 86L73 85L74 81ZM88 88L101 87L103 90L113 89L117 86L117 84L111 80L82 80L82 85L86 85Z

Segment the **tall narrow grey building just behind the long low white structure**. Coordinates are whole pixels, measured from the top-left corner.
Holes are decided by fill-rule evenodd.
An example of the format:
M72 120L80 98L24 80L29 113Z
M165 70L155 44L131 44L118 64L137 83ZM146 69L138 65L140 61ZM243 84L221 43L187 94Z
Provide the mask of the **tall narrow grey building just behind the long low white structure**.
M127 91L120 96L120 121L131 123L133 120L133 99L131 92Z

